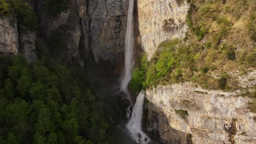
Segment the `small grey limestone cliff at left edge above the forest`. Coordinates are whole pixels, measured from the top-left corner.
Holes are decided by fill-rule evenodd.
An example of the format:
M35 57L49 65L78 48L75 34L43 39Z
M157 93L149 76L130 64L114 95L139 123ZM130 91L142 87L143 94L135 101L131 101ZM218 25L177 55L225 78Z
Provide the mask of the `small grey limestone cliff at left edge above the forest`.
M0 53L21 53L29 63L36 61L36 32L20 30L14 14L0 18Z

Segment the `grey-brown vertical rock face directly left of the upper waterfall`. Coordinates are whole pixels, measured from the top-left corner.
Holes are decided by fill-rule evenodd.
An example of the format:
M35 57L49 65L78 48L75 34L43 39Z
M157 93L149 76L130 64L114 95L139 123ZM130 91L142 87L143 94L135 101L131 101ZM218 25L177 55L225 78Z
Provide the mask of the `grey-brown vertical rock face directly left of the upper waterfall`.
M97 0L88 3L85 35L95 61L117 62L124 51L128 0Z

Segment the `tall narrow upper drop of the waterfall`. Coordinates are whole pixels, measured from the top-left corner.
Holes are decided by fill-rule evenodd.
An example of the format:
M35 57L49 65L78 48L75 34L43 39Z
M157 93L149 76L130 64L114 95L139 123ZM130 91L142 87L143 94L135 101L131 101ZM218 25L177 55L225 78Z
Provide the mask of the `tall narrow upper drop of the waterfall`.
M132 68L133 68L133 46L134 46L134 35L133 35L133 7L134 0L129 2L129 10L127 16L127 29L125 38L125 71L122 76L121 90L128 94L128 83L131 80Z

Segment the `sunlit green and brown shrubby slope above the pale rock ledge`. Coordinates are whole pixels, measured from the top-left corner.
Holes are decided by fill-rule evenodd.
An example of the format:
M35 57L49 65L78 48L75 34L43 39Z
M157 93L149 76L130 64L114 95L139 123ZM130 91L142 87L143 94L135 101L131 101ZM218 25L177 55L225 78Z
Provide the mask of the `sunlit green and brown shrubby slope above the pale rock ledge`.
M188 2L187 36L160 44L147 70L138 76L146 77L133 76L131 82L154 87L189 81L205 89L245 90L229 74L256 66L255 1Z

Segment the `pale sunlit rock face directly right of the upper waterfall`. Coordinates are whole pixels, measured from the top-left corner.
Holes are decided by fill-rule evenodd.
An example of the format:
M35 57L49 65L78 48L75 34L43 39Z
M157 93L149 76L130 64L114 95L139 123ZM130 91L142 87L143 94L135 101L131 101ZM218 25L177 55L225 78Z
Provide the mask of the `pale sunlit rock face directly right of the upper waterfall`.
M141 45L152 58L165 40L184 37L189 4L183 0L138 0L138 23Z

